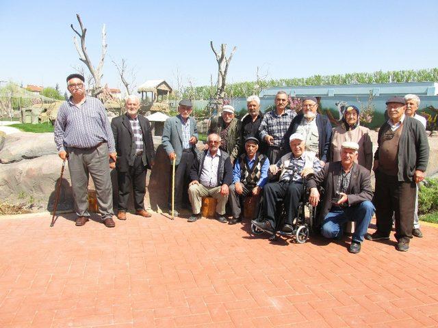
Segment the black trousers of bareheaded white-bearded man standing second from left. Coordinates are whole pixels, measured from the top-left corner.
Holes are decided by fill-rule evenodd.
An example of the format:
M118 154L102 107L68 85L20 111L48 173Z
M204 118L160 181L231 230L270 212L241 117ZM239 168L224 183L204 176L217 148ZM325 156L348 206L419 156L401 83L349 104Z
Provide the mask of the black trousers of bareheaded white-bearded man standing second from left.
M136 156L128 172L117 172L118 181L118 210L126 211L128 208L129 193L133 190L134 207L144 210L144 194L146 193L146 172L142 157ZM131 187L132 186L132 187Z

